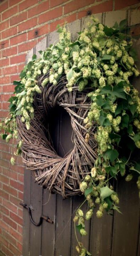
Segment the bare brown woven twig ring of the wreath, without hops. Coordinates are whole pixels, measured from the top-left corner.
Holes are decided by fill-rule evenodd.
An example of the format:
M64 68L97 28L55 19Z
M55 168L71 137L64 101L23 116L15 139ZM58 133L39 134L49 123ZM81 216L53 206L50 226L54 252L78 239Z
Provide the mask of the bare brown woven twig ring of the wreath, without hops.
M22 146L22 156L27 169L33 171L39 184L66 198L80 194L80 182L89 174L95 163L96 124L90 130L85 128L84 119L91 106L87 91L79 92L75 86L71 93L68 92L65 76L57 86L48 83L43 88L41 83L45 78L47 75L38 80L42 93L34 96L34 119L30 129L26 129L20 117L17 119L20 139L25 142ZM46 136L48 129L45 127L45 120L55 106L63 107L71 117L74 148L64 158L56 154L49 134ZM89 134L90 140L85 140L86 134Z

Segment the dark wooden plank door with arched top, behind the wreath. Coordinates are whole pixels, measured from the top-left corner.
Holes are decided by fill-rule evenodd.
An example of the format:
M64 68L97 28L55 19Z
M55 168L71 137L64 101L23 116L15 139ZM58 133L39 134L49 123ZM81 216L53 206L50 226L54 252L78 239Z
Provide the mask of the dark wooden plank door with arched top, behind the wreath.
M110 23L114 17L115 20L120 21L128 17L128 12L125 10L121 12L121 15L110 12L97 16L100 21L104 21L104 24L112 25ZM108 20L107 17L109 17ZM108 22L110 23L108 24ZM72 38L84 24L84 19L70 24ZM58 34L50 33L42 42L38 43L28 57L39 50L44 50L57 38ZM51 137L56 152L63 157L73 146L70 117L60 108L55 109L52 116ZM112 216L106 214L102 219L97 219L96 214L94 214L92 220L86 223L88 235L86 237L78 235L92 256L140 255L140 215L136 180L125 183L124 178L120 178L115 186L119 195L119 206L122 214L117 212ZM77 242L72 219L82 201L82 196L63 200L60 195L50 194L37 183L34 183L31 172L26 170L24 203L31 207L34 221L38 222L39 217L44 215L49 216L54 224L43 220L42 225L36 227L31 223L27 209L23 210L23 256L76 256L75 246ZM83 210L86 211L86 208L85 204Z

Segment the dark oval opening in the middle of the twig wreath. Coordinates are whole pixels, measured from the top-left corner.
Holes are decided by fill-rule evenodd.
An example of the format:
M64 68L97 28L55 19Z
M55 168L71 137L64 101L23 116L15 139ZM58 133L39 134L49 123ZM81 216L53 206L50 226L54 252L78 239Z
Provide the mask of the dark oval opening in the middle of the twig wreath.
M71 118L63 107L56 106L50 111L48 130L55 152L64 158L72 151L74 143Z

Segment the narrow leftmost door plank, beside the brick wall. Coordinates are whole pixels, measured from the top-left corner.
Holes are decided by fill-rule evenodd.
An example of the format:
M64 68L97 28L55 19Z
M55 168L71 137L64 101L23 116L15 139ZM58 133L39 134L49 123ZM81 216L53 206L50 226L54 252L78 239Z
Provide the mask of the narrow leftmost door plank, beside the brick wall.
M31 171L24 172L24 203L31 204ZM23 208L23 256L29 256L30 245L30 219L28 210Z

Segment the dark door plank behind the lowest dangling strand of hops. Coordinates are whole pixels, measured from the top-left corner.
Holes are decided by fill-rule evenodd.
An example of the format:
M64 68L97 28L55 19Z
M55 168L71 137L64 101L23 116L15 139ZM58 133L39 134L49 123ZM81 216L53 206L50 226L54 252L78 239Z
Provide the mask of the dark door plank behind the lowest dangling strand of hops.
M74 196L74 203L73 203L73 216L75 216L75 212L76 210L80 207L80 205L83 203L83 201L85 200L84 196ZM85 203L81 210L84 212L84 216L85 213L87 211L87 203ZM77 225L77 223L76 223ZM87 235L86 236L81 236L79 231L76 230L76 235L78 238L78 241L81 242L87 250L89 250L89 245L90 245L90 221L85 221L85 230L87 231ZM76 240L76 236L75 236L75 228L74 228L74 223L72 222L72 241L71 241L71 256L77 256L77 252L75 250L75 247L77 246L77 240Z

